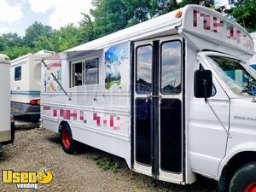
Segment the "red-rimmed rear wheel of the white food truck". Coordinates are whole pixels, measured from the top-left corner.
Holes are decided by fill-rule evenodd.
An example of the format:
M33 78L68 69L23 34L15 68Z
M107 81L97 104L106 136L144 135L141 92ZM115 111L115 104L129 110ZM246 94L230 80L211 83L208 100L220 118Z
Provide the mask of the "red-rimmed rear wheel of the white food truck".
M62 125L61 146L67 154L74 154L74 152L77 151L78 142L73 140L69 125Z

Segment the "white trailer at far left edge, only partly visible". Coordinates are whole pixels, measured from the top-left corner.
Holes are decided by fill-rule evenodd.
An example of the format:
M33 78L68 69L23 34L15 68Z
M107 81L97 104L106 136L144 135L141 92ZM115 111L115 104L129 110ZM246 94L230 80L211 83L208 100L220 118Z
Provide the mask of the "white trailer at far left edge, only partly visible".
M10 116L9 57L0 54L0 144L13 143L14 119Z

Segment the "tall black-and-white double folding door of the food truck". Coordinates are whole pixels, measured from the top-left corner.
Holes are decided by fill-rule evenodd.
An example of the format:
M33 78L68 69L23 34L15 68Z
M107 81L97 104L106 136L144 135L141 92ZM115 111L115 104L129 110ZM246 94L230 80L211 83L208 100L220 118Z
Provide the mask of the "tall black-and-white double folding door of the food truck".
M134 170L183 182L182 41L135 43Z

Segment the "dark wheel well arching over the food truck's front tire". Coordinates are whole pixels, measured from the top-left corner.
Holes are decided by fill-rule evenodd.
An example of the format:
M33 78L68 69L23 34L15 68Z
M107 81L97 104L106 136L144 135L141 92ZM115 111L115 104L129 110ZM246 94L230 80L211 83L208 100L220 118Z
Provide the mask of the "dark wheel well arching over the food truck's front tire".
M235 172L241 167L246 165L247 163L256 161L256 152L247 151L241 152L233 156L229 162L224 166L221 176L219 178L218 185L226 188L229 185L231 178L235 174ZM222 191L222 190L219 190ZM226 191L226 190L223 190Z

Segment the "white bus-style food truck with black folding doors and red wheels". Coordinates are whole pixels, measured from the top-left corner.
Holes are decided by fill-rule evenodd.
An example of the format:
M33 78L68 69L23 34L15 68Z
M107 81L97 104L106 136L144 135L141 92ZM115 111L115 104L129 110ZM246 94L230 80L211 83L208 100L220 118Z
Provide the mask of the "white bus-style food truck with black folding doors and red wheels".
M43 61L41 119L68 154L85 143L163 181L254 191L252 55L240 25L189 5Z

